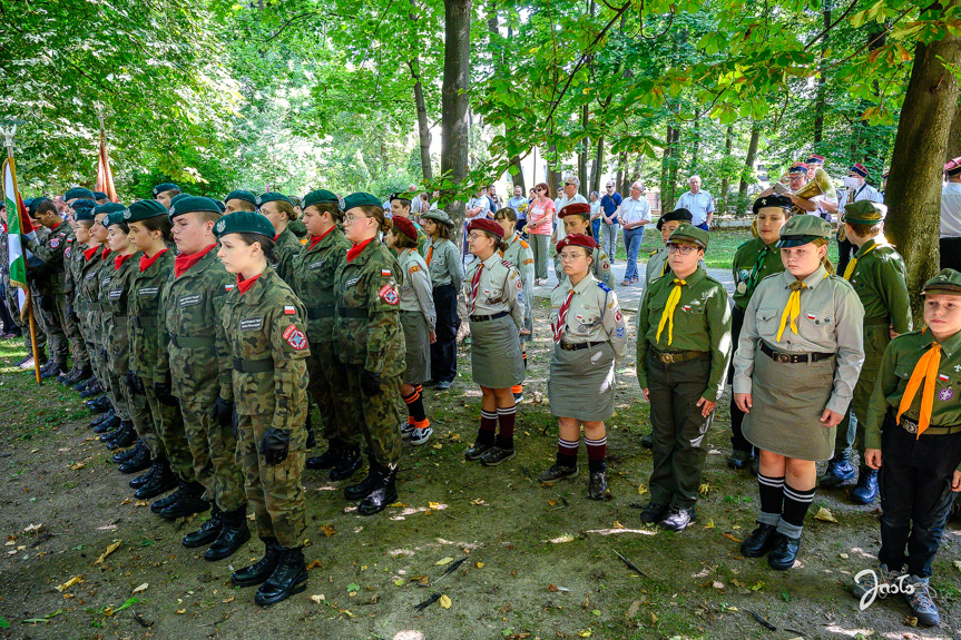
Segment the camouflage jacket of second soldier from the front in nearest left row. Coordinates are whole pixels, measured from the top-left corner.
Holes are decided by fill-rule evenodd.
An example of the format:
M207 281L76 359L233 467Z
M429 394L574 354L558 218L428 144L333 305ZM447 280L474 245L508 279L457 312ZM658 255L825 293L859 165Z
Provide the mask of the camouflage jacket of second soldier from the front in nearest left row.
M234 276L217 259L215 246L179 277L170 277L161 292L157 377L170 380L177 397L212 384L229 386L231 372L218 371L227 354L217 342L217 325L224 298L236 286Z

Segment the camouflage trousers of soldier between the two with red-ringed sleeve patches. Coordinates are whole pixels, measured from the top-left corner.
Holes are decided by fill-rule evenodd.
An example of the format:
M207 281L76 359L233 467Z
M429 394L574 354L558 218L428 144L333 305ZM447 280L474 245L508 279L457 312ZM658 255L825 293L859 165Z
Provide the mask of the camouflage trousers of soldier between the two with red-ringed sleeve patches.
M344 393L347 373L344 363L334 355L334 343L311 344L307 373L311 377L307 391L321 412L324 437L328 442L337 440L357 446L361 442L360 406Z

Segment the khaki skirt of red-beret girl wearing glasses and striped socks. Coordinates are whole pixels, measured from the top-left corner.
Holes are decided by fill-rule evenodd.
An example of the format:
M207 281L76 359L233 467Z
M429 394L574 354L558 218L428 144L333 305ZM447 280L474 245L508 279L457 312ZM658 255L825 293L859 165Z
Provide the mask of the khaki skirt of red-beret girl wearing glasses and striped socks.
M566 351L555 344L547 378L551 414L586 422L610 420L614 391L610 343L578 351Z

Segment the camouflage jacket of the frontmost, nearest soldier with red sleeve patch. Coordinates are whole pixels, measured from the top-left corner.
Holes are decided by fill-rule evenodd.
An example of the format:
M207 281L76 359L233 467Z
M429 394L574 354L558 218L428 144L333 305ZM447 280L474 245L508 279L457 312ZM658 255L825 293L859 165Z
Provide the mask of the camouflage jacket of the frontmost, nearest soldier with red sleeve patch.
M232 384L220 397L242 415L273 415L271 426L294 429L306 420L307 362L303 303L267 268L246 293L234 287L224 299L217 339L227 345L220 370Z

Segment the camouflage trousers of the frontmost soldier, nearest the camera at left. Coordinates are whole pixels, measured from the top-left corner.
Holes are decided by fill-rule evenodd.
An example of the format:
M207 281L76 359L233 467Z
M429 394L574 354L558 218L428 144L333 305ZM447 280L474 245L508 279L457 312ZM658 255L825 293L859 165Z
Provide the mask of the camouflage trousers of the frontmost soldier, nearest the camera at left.
M259 538L276 538L287 548L300 547L306 529L306 508L301 474L306 461L307 431L294 427L287 459L267 464L258 453L273 414L238 415L237 463L244 472L244 490L254 512Z

